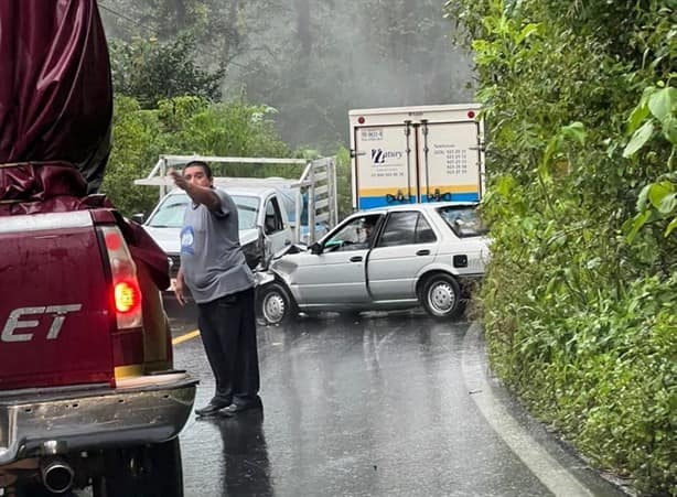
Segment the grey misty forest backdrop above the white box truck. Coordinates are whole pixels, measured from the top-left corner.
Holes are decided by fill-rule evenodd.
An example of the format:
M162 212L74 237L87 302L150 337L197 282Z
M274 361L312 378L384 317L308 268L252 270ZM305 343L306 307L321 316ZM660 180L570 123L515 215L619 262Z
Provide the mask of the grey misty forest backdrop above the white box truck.
M215 75L212 97L275 108L278 131L292 148L347 144L350 109L473 97L470 56L452 43L455 23L444 19L443 0L98 4L108 40L118 46L190 36L189 56Z

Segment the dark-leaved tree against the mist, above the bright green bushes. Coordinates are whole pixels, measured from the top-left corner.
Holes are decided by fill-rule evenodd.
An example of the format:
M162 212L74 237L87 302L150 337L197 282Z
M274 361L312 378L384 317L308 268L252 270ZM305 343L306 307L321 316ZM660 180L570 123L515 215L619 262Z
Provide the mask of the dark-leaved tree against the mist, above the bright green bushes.
M162 99L194 95L216 100L224 69L213 73L194 62L195 41L181 34L169 43L136 37L110 42L112 85L117 95L136 98L141 107L154 108Z

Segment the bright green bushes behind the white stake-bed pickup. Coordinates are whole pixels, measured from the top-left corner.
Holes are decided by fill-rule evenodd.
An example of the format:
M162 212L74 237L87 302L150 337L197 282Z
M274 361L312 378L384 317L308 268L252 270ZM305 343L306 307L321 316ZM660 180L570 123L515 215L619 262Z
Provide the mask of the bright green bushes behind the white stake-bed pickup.
M133 180L148 175L160 154L288 158L291 153L268 118L271 112L244 100L211 104L198 97L161 100L157 109L143 110L137 100L118 97L114 148L101 191L126 215L149 213L158 191L132 185ZM297 177L301 172L301 166L275 165L261 165L252 172L248 164L215 170L218 175L260 177Z

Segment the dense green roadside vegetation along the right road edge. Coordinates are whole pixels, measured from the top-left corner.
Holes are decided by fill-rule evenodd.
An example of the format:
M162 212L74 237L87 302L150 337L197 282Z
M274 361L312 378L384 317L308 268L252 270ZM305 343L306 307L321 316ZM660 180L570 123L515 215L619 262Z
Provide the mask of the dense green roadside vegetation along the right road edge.
M487 125L496 374L602 471L677 495L677 3L450 0Z

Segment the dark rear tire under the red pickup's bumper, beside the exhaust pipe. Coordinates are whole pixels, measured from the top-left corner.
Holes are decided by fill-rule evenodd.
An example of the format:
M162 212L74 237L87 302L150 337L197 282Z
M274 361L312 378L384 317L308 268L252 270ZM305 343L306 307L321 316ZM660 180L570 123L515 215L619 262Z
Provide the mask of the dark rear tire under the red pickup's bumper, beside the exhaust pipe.
M179 439L104 453L106 474L93 482L94 497L183 497Z

